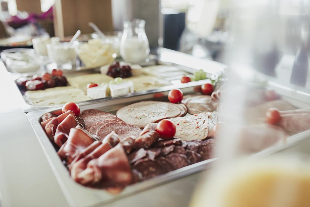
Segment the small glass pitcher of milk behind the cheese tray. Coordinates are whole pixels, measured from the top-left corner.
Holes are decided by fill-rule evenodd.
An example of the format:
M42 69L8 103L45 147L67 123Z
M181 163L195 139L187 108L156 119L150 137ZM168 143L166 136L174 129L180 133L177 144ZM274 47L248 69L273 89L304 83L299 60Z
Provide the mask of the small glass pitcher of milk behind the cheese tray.
M124 22L120 53L125 62L136 63L145 61L150 53L150 46L145 34L144 25L144 20Z

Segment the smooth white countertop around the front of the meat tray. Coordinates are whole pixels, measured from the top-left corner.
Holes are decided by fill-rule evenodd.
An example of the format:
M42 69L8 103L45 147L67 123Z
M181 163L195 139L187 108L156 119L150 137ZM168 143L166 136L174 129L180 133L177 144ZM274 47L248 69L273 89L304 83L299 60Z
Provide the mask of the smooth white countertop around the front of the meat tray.
M69 206L0 61L0 206ZM199 173L106 206L187 206Z

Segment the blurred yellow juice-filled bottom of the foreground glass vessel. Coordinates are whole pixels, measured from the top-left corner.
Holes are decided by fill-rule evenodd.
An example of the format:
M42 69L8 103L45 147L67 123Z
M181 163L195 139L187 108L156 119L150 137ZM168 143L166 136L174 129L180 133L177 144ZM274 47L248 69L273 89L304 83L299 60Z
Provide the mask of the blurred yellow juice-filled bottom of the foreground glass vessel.
M242 162L229 166L233 170L225 168L212 173L207 183L197 188L190 206L310 206L309 163L285 157L267 159Z

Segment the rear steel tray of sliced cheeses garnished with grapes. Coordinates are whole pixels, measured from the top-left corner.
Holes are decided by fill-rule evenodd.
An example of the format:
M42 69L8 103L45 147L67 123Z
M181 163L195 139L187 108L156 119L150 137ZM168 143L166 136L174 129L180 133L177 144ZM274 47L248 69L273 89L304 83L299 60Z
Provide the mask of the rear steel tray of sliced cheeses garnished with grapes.
M133 84L132 89L130 89L129 92L117 95L114 95L111 89L109 90L109 86L110 83L113 82L114 77L123 76L122 74L120 76L119 74L115 76L115 74L109 71L106 72L105 70L107 70L108 67L106 67L106 69L101 67L87 70L62 70L60 75L57 74L60 71L55 71L55 74L53 74L54 71L47 71L45 74L42 73L43 75L34 74L32 77L19 77L15 80L15 83L24 99L22 109L24 112L28 113L30 111L60 106L65 102L82 103L104 101L120 96L128 97L160 92L162 90L168 90L169 88L182 87L180 78L184 75L193 76L193 74L201 70L204 71L205 77L211 77L214 74L220 74L225 67L224 64L209 60L200 60L199 58L164 48L158 49L156 54L157 59L150 62L147 66L144 65L141 67L139 65L131 65L132 75L130 77L125 76L124 84L125 82L131 82ZM120 63L124 64L122 62ZM114 65L111 66L114 67ZM118 65L119 68L121 68L121 66ZM135 67L138 67L138 69ZM46 79L44 76L50 77ZM34 85L33 88L30 88L31 84L29 84L29 86L25 87L26 82L29 82L29 80L31 80L33 84L38 82L38 85ZM40 83L41 80L43 83ZM208 80L197 80L192 81L190 83L191 86L201 85L202 82L208 83ZM94 92L89 93L86 88L88 83L98 83L101 90L108 85L108 87L106 87L108 89L104 91L109 94L105 94L104 96L100 94L100 96L98 96L98 92L95 92L95 95Z

